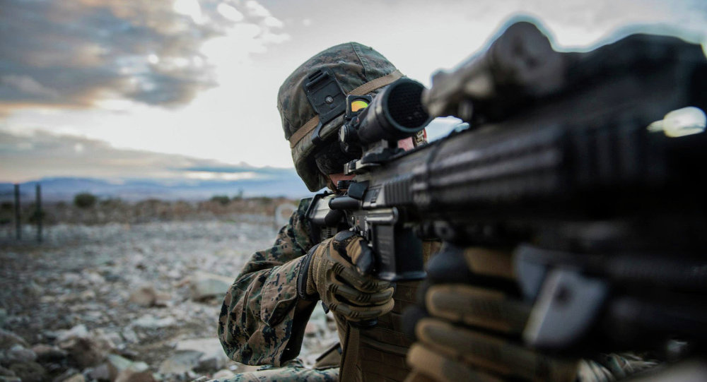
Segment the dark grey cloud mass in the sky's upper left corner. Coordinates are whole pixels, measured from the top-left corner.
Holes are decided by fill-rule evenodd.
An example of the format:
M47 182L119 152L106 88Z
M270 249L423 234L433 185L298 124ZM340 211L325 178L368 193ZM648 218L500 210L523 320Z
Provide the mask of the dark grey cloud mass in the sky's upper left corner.
M0 0L0 106L189 102L214 85L202 42L233 25L216 6L194 20L172 1Z

